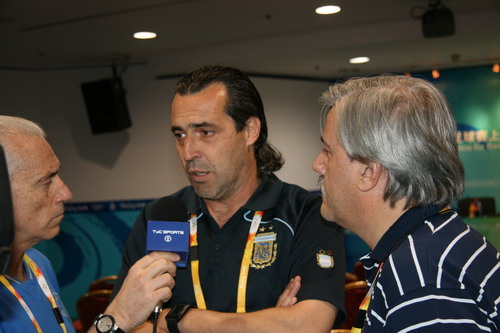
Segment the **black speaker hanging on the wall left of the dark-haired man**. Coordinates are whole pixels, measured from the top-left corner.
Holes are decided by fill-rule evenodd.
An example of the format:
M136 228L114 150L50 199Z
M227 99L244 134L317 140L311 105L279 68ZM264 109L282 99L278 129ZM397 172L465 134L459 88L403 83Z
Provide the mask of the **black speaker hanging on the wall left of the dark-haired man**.
M81 88L92 134L116 132L132 126L120 77L82 83Z

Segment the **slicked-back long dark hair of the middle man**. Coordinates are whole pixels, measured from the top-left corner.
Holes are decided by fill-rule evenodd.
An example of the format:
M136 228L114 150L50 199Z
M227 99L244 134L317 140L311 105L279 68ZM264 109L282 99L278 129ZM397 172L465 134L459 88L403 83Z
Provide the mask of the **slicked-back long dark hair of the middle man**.
M267 122L264 105L257 88L247 75L236 68L224 66L202 66L184 75L175 89L180 96L195 94L208 86L219 83L228 93L226 113L234 120L236 131L246 126L250 117L260 120L260 135L255 142L254 151L257 160L257 176L268 178L284 164L281 153L267 142Z

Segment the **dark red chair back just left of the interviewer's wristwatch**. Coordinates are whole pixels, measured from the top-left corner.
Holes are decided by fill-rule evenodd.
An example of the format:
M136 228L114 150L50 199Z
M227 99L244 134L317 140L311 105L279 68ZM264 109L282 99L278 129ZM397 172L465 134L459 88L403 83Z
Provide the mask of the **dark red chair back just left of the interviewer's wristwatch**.
M92 326L95 317L100 313L104 313L104 310L108 307L111 293L112 291L109 289L92 290L78 299L76 312L80 319L82 332L87 332Z

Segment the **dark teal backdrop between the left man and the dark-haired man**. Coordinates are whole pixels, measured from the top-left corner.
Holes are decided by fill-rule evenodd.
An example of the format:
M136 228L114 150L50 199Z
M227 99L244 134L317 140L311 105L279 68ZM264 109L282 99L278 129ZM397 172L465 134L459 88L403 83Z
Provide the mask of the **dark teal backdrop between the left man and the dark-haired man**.
M52 262L61 298L73 319L89 284L118 274L123 247L140 209L150 200L66 204L60 234L36 246Z

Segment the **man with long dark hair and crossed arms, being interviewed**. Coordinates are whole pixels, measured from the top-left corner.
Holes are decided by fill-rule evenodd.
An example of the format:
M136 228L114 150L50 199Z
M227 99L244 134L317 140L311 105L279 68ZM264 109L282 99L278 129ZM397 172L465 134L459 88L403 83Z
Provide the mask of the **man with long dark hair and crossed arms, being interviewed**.
M343 232L321 219L319 195L274 175L283 158L267 141L254 84L229 67L186 74L171 131L191 184L174 196L191 214L197 256L178 268L160 327L169 313L172 333L330 332L343 317ZM137 219L119 279L144 255L152 205ZM296 297L286 289L291 279L301 285Z

